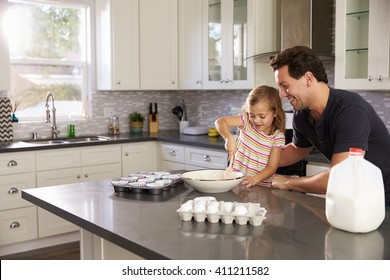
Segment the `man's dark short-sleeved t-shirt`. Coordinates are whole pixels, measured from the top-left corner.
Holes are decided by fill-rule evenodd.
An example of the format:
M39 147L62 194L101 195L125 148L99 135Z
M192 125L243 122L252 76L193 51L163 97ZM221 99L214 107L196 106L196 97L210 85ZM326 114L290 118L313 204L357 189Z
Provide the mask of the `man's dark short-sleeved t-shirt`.
M373 107L354 92L330 88L322 117L314 122L309 110L296 111L293 143L314 146L329 161L333 154L349 148L366 151L365 159L379 167L385 184L386 203L390 203L390 135Z

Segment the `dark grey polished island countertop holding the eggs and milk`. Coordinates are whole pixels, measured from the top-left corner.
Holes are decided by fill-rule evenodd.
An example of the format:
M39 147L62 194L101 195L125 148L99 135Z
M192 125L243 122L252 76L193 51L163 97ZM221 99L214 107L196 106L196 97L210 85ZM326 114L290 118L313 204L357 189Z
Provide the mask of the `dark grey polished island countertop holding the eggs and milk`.
M237 186L212 196L261 203L268 212L260 226L183 222L180 204L210 194L180 183L163 195L119 196L108 183L28 189L22 197L145 259L390 259L389 210L379 229L353 234L328 224L323 198Z

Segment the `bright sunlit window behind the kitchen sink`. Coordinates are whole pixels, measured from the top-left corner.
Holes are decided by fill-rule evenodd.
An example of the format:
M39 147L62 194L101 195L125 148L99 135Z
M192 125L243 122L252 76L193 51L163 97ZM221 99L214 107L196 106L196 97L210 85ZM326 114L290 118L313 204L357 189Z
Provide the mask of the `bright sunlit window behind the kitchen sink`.
M46 95L57 118L87 115L89 7L86 0L8 0L11 102L20 121L45 119ZM50 105L51 106L51 105Z

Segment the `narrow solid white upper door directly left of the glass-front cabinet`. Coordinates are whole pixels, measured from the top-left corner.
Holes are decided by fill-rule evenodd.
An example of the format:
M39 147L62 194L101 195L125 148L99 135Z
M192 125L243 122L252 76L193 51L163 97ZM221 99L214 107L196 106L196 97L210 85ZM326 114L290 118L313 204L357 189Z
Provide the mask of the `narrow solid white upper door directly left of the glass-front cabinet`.
M179 88L202 89L202 1L179 0Z

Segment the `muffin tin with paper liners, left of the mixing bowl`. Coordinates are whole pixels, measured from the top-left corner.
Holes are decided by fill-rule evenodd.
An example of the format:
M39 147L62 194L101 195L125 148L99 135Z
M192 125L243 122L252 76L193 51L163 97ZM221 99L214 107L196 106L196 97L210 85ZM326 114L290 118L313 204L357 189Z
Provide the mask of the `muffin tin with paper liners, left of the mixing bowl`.
M169 172L139 172L110 182L115 192L148 192L161 194L181 181L181 174Z

